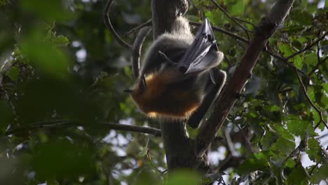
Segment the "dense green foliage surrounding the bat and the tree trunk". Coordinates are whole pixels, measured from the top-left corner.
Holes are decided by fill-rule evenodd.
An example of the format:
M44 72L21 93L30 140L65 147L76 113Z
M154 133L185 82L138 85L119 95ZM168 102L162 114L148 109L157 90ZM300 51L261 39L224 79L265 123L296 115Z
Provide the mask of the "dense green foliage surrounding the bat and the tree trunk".
M217 3L232 17L212 1L196 0L186 17L193 22L207 17L248 39L274 1ZM191 172L167 180L160 137L99 124L159 127L123 93L133 83L131 53L104 26L105 4L0 0L0 184L199 181ZM149 20L150 4L116 1L111 11L116 32L123 35ZM327 7L324 1L294 2L218 133L224 139L212 142L207 153L212 171L203 181L328 183ZM226 55L221 69L231 76L247 43L216 34ZM135 33L123 36L128 43L134 38ZM151 36L144 48L149 43Z

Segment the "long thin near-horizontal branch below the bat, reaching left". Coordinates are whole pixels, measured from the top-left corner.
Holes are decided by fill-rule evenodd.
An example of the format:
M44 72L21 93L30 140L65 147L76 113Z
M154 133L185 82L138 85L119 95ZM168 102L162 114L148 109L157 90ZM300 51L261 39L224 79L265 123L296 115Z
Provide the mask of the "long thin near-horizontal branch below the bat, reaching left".
M48 121L43 123L37 123L33 125L27 125L22 126L19 128L15 128L13 130L6 131L5 135L14 135L18 132L27 132L29 130L34 130L36 128L57 128L57 127L77 127L77 126L83 126L83 127L98 127L98 128L109 128L113 130L123 130L123 131L130 131L130 132L139 132L144 134L150 134L155 135L156 137L159 137L161 135L161 131L157 128L147 128L147 127L140 127L135 125L125 125L125 124L118 124L118 123L86 123L86 122L78 122L78 121L62 121L60 123L53 123L53 124L44 124L49 123Z

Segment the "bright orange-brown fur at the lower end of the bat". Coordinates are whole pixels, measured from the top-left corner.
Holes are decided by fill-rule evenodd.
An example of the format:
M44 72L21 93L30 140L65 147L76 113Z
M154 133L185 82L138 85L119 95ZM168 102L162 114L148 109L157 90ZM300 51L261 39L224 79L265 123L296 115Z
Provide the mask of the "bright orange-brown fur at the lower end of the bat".
M161 71L146 76L146 87L139 80L131 90L140 111L152 118L186 119L199 107L202 95L192 91L184 81L172 83L175 71Z

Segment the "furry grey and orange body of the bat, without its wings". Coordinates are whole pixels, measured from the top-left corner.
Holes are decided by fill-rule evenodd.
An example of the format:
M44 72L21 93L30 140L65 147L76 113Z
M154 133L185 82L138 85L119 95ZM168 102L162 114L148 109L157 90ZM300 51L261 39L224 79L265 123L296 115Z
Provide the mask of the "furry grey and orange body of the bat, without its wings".
M147 51L131 95L140 111L149 117L189 118L198 111L207 91L213 88L210 68L184 74L181 72L182 68L175 65L184 57L193 40L188 20L179 17L173 25L172 32L159 36ZM165 60L160 52L174 63ZM211 64L217 66L223 58L223 53L210 50L207 56L212 56L214 60ZM218 77L218 74L215 72L214 77ZM140 85L142 82L145 82L144 88Z

